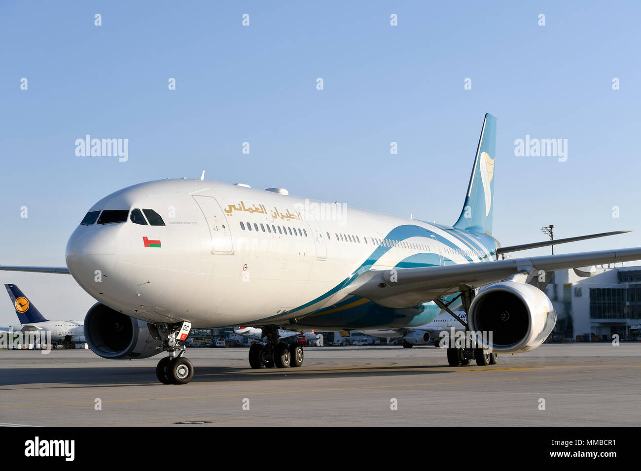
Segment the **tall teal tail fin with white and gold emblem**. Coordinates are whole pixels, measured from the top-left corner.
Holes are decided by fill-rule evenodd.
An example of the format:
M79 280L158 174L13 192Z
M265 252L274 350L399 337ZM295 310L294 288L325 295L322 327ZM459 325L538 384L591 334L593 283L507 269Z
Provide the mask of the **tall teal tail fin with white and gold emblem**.
M496 158L496 118L485 115L481 138L476 149L470 184L461 215L454 224L476 234L492 235L494 206L494 159Z

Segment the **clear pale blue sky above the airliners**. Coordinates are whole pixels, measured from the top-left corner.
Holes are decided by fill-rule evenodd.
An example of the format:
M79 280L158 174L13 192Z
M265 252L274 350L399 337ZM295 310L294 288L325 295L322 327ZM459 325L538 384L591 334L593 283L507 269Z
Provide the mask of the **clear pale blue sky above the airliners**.
M640 246L640 13L635 1L4 1L0 263L64 265L98 199L202 170L452 224L486 112L503 245L552 223L558 237L636 229L558 252ZM128 138L129 160L76 156L87 134ZM528 134L567 139L567 161L516 157ZM93 302L67 276L0 281L46 317L82 319ZM15 322L0 298L0 326Z

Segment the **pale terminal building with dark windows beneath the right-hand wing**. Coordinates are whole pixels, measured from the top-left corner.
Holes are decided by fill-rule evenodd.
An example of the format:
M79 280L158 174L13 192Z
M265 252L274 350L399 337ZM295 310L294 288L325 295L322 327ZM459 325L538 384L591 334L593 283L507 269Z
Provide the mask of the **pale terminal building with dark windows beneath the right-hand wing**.
M574 270L554 272L545 293L558 315L557 330L573 340L640 340L641 267L597 266L583 278Z

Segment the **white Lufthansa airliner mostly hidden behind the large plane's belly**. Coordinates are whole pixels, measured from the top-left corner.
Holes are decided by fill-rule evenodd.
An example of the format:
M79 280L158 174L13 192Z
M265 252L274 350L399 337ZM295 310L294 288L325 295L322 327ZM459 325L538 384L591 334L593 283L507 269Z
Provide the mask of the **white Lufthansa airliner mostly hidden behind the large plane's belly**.
M403 338L403 347L406 349L412 348L413 345L427 345L428 343L434 343L438 346L443 333L450 336L453 332L452 329L454 332L465 331L465 325L461 324L460 320L467 322L467 314L465 312L455 312L454 314L458 319L451 314L444 313L424 326L370 329L364 330L363 334L381 338L401 337Z

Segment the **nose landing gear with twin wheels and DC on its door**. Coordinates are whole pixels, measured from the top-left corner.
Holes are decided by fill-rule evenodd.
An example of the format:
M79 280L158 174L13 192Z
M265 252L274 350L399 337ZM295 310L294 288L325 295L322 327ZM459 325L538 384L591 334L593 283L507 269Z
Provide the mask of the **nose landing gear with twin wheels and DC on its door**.
M194 377L194 365L185 354L185 340L192 328L190 322L181 322L179 324L161 324L155 325L157 331L154 336L158 336L163 341L162 349L167 351L169 356L158 361L156 365L156 377L163 384L187 384Z

